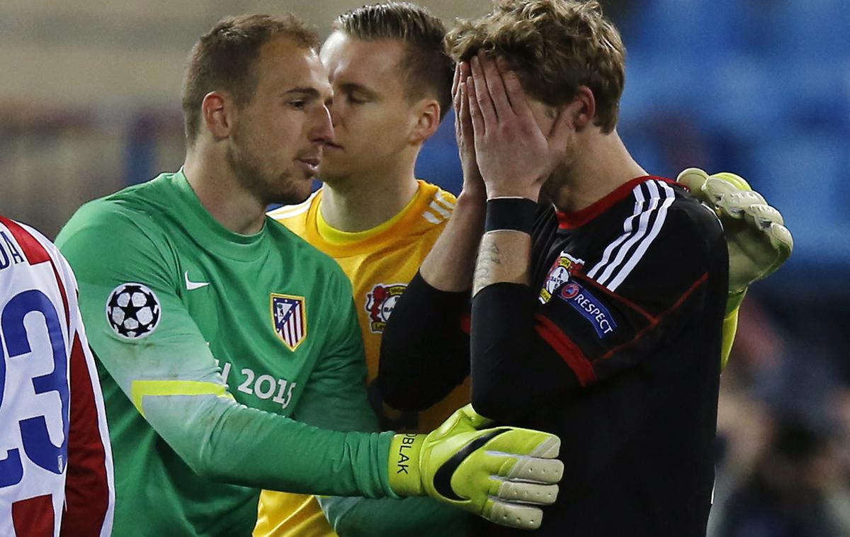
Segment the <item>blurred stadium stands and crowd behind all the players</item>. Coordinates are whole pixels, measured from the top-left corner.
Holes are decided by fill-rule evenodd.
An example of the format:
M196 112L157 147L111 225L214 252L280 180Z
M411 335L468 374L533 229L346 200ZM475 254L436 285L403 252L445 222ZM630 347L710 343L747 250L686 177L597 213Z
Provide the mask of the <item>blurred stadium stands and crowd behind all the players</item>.
M54 236L83 202L177 169L184 58L222 15L292 11L326 33L361 3L0 1L0 213ZM447 21L490 5L420 3ZM796 239L751 289L723 375L711 534L850 535L850 2L603 4L638 161L739 172ZM451 122L417 172L457 191Z

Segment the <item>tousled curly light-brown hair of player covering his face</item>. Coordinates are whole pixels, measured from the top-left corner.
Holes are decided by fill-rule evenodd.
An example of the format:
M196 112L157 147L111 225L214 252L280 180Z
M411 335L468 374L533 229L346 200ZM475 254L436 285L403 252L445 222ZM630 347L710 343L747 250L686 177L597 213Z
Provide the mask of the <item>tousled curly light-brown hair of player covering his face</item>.
M490 14L460 21L446 48L456 60L479 49L504 56L525 91L550 106L587 86L596 99L594 122L605 133L614 130L626 48L596 0L499 0Z

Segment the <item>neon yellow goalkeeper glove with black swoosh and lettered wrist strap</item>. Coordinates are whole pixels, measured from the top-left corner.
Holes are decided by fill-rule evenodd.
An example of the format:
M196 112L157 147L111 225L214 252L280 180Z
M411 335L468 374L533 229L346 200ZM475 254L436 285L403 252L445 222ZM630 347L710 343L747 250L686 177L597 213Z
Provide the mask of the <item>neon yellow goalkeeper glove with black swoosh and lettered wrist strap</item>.
M396 434L389 484L396 494L428 495L513 528L540 527L539 506L558 497L561 441L547 432L495 427L471 404L434 431Z

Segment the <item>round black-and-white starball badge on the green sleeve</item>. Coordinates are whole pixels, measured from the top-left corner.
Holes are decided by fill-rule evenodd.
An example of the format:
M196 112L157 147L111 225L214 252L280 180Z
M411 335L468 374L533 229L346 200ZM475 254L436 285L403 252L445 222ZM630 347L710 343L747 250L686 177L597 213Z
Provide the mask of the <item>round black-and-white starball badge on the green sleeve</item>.
M106 300L106 320L118 336L126 339L150 336L161 316L159 299L147 285L118 285Z

